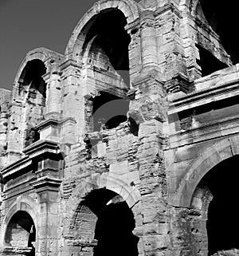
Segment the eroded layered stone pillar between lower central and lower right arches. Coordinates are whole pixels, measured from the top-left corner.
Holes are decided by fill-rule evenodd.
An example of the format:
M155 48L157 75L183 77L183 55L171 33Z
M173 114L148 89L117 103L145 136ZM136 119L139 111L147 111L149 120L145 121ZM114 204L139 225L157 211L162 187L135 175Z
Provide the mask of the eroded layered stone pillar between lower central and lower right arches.
M170 250L170 216L167 206L167 174L163 127L167 124L167 93L159 73L142 73L134 81L135 99L128 116L139 124L139 191L141 216L135 219L139 256L166 255ZM142 222L142 228L140 223Z

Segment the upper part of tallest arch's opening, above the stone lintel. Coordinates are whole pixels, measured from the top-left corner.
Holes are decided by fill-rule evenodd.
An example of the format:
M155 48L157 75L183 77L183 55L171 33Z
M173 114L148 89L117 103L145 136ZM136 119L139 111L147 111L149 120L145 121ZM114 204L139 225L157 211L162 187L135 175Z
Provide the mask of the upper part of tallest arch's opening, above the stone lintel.
M118 8L102 10L80 32L73 57L84 65L104 70L104 74L112 73L117 79L122 70L129 71L131 37L124 28L126 25L127 19Z

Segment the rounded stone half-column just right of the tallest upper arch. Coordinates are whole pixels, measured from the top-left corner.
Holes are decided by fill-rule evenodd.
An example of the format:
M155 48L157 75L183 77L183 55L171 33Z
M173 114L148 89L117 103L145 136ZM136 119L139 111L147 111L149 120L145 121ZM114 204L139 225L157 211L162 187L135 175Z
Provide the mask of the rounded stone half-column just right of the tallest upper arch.
M140 17L141 51L143 70L158 69L158 49L155 37L155 18L151 10L144 10Z

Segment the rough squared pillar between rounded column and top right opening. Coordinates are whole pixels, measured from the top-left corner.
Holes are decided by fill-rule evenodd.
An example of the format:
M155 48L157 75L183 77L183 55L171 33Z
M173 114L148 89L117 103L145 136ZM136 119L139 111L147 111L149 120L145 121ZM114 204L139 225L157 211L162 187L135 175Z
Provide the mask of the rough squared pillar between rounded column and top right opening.
M181 17L176 2L166 1L155 11L159 66L167 93L187 92L186 58L182 45Z

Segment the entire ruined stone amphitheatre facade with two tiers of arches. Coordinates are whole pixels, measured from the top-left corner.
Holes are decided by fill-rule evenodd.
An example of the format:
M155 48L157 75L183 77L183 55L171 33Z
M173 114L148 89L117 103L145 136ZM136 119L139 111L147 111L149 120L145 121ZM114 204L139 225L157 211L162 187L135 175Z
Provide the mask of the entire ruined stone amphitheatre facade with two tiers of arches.
M0 90L0 255L238 254L207 230L207 177L239 154L239 70L204 11L100 0L65 55L26 54Z

